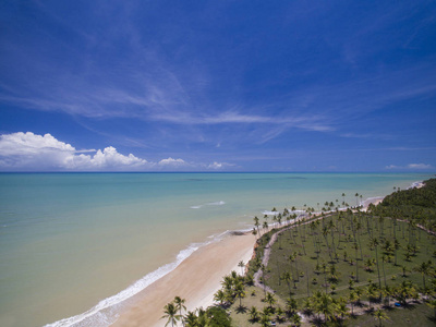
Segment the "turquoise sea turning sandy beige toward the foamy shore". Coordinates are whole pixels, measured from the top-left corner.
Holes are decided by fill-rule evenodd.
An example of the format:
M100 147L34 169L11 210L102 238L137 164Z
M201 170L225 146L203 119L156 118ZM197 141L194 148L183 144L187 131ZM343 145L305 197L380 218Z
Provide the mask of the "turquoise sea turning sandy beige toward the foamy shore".
M342 193L355 205L355 193L363 198L386 195L393 186L405 189L427 178L1 173L0 325L41 326L98 303L117 307L204 242L227 230L250 229L254 215L262 217L272 207L316 208L326 201L341 203ZM132 286L135 281L141 282ZM110 317L101 316L97 323L107 325Z

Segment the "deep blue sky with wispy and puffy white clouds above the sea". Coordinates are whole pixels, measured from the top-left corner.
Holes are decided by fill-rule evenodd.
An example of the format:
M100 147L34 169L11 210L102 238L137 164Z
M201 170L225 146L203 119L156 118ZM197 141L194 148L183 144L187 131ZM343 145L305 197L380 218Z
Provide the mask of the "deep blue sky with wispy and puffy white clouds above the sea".
M435 1L0 2L0 171L436 171Z

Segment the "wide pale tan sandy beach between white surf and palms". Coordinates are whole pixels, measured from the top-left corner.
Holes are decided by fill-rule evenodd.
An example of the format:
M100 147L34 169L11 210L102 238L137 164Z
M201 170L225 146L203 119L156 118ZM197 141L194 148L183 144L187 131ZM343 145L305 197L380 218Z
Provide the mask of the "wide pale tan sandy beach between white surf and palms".
M136 295L137 301L121 312L112 326L165 326L167 322L160 319L164 306L175 295L186 300L187 311L211 305L222 277L231 270L241 274L238 263L250 261L254 244L255 237L246 233L198 249L178 268Z

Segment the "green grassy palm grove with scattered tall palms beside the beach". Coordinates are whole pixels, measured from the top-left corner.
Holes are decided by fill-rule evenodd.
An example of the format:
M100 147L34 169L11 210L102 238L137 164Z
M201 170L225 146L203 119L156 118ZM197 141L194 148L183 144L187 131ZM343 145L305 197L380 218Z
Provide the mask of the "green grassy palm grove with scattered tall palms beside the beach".
M383 308L413 300L435 307L436 319L436 180L421 189L395 187L366 211L360 194L353 208L341 196L341 204L326 202L318 215L305 205L298 219L294 207L274 208L264 221L255 217L257 244L245 276L226 276L214 307L183 315L180 301L169 303L168 324L322 326L370 314L382 325Z

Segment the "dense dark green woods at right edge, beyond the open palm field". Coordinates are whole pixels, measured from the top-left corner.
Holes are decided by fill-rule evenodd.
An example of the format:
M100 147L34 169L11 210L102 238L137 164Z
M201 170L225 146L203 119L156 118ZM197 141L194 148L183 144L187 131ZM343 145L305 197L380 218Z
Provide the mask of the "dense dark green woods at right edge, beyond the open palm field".
M421 189L397 191L373 208L380 217L407 219L436 232L436 179L424 181Z

